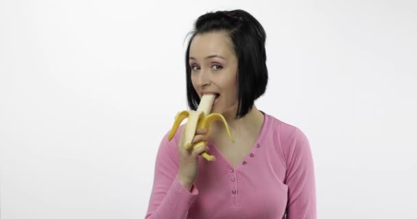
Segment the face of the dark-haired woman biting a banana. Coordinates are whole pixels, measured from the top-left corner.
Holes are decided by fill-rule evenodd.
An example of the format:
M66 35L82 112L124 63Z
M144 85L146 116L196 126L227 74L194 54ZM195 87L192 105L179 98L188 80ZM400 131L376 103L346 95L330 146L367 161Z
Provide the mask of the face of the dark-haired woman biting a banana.
M237 57L226 31L197 34L189 50L191 82L200 99L220 94L211 112L234 116L237 110Z

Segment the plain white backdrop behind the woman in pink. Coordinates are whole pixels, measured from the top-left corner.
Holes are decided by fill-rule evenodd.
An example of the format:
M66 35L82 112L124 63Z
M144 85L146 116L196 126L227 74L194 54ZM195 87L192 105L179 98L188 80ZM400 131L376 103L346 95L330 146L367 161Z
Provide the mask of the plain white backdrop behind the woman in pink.
M416 1L0 1L0 217L144 218L200 14L267 33L260 110L300 128L318 218L417 218Z

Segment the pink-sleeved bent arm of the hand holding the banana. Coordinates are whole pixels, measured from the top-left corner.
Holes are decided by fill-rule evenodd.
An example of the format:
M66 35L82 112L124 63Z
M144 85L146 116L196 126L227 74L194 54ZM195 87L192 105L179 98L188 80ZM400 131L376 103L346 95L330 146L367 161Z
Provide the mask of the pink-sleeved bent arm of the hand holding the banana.
M178 129L178 133L180 133ZM146 219L151 218L187 218L187 212L198 190L194 187L191 192L184 188L178 180L178 152L176 135L170 142L167 134L160 142L156 155L154 185L150 196Z

